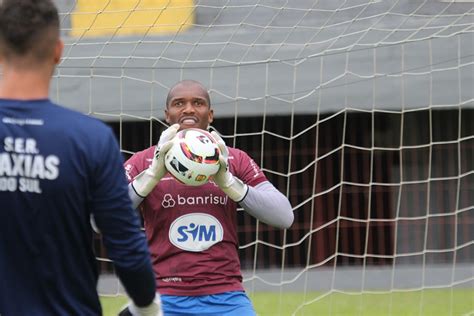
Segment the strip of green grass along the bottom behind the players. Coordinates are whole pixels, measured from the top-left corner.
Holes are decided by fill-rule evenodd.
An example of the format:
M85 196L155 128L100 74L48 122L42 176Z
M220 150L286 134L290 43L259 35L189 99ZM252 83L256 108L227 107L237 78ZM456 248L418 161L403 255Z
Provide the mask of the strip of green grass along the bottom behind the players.
M309 292L249 294L258 315L474 315L474 289L424 290L363 295ZM126 298L102 297L105 316L117 315ZM303 303L306 302L307 305Z

